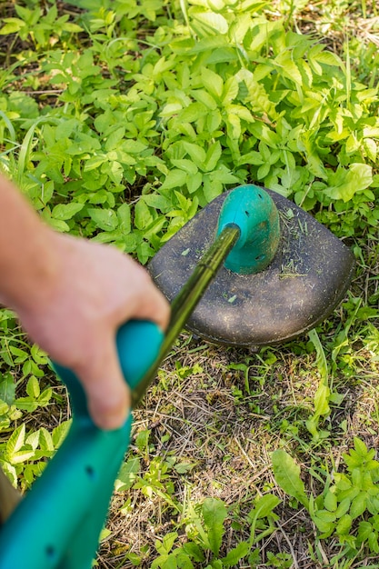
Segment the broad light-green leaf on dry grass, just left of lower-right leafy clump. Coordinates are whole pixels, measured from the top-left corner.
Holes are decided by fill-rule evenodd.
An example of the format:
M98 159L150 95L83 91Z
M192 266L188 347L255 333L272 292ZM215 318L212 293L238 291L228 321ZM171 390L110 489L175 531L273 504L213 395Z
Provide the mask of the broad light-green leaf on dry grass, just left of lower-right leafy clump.
M308 497L305 494L304 482L300 478L300 466L283 449L274 451L272 460L277 484L286 494L293 496L305 508L308 508Z

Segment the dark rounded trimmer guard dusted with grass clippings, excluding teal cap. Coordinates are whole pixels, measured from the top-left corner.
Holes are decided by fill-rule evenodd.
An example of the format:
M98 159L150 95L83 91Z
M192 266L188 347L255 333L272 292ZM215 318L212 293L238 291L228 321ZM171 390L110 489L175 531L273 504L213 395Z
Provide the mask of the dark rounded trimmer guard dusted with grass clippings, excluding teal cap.
M354 271L354 255L324 225L270 190L237 189L252 187L276 205L279 243L272 262L259 272L221 268L197 305L188 329L218 344L262 346L303 334L341 302ZM150 263L150 274L169 301L214 242L224 200L234 191L204 207Z

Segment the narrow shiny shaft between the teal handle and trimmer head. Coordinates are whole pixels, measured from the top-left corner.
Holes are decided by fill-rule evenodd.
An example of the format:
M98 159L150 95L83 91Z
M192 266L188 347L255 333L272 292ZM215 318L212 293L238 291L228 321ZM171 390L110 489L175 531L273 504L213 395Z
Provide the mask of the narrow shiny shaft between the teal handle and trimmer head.
M202 298L205 290L211 284L220 266L237 242L240 236L237 225L226 225L218 235L214 244L205 251L199 263L194 267L193 274L175 297L171 305L171 320L166 330L165 339L155 364L145 374L144 379L132 393L132 407L139 403L148 384L154 379L159 364L171 349L175 339L183 330L189 316L194 312L196 304Z

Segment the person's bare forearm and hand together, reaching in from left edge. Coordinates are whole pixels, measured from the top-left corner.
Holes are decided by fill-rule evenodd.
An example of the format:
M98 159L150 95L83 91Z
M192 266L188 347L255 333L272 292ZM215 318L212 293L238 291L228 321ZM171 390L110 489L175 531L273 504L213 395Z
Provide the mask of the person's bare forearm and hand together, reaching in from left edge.
M125 420L129 394L115 333L131 318L165 329L169 307L145 269L112 246L55 233L0 177L0 302L57 363L72 369L98 426Z

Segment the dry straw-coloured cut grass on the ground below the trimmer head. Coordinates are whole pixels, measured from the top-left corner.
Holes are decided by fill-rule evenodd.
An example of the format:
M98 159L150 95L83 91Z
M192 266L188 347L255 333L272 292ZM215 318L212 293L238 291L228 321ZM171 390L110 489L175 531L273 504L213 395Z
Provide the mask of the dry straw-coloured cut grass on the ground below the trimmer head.
M185 474L175 470L170 473L175 502L185 505L191 500L199 504L205 497L217 497L232 510L238 508L241 518L252 507L255 496L274 492L283 504L277 509L280 519L276 531L261 544L262 566L267 566L264 565L266 550L290 553L293 567L299 569L330 566L326 560L337 553L337 544L330 541L319 549L324 564L317 565L310 559L308 546L315 543L313 524L304 509L291 507L288 497L275 483L270 454L282 446L297 454L304 480L318 494L321 488L314 488L314 479L308 475L312 465L327 462L338 468L353 436L360 436L370 447L376 446L378 362L370 362L368 353L358 353L354 377L348 380L336 377L344 401L334 408L330 418L330 439L312 446L304 420L312 411L318 383L314 354L294 354L291 347L271 349L270 354L277 359L268 365L262 364L264 354L254 356L243 350L198 345L189 342L187 336L182 342L183 347L176 348L161 370L165 389L156 383L146 396L144 408L135 412L135 433L151 431L151 451L142 463L140 475L148 472L155 457L165 460L167 456L175 456L177 464L190 466ZM250 394L244 392L244 373L230 369L231 364L244 364L246 358L251 362ZM194 368L197 372L181 379L173 369L178 362L182 368ZM284 430L286 422L294 426L295 436L294 432ZM134 451L138 454L132 445ZM125 500L133 504L126 515L120 513ZM146 498L141 490L134 489L116 494L108 525L112 537L102 544L100 566L132 567L125 554L146 551L141 566L149 567L155 554L155 540L180 526L182 515L156 494ZM245 537L231 528L227 536L225 552Z

